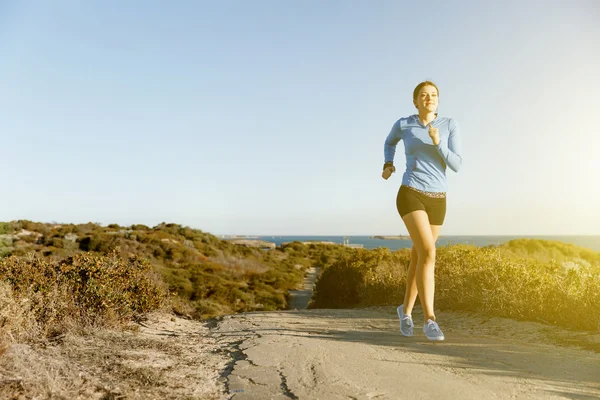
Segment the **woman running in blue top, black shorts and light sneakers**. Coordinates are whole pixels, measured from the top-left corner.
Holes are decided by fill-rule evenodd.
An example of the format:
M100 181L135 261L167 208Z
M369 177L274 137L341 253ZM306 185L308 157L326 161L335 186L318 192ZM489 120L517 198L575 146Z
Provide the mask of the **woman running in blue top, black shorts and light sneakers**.
M398 306L400 332L413 335L412 309L419 295L423 332L430 340L444 340L433 312L435 293L435 242L446 216L446 167L458 172L462 164L458 124L440 117L438 87L421 82L413 92L417 114L400 118L385 140L383 179L396 171L396 145L404 141L406 170L396 197L396 207L412 239L404 304Z

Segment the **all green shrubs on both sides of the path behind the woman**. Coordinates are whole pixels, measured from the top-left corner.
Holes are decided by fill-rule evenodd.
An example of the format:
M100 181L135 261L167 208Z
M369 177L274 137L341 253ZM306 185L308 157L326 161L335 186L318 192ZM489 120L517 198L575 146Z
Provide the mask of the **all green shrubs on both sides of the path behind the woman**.
M311 307L402 302L410 252L291 242L274 249L162 223L0 223L0 341L126 327L152 310L194 319L286 309L310 267ZM436 307L600 328L600 253L513 240L438 248Z

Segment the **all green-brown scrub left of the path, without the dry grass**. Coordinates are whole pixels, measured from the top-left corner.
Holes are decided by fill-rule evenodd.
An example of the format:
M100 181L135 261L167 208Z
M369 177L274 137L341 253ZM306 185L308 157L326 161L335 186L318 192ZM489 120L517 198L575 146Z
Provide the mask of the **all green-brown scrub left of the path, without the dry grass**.
M0 223L0 336L52 337L126 326L151 310L195 319L287 308L306 269L352 250L288 243L264 250L178 224ZM8 322L7 322L8 321Z

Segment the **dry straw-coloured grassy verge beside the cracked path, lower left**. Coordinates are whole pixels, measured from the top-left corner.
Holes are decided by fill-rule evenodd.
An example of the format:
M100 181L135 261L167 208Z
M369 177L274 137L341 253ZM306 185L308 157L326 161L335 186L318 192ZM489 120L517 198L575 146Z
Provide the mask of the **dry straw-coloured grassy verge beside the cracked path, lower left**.
M0 357L2 399L218 399L227 357L195 321L154 314L139 332L90 330Z

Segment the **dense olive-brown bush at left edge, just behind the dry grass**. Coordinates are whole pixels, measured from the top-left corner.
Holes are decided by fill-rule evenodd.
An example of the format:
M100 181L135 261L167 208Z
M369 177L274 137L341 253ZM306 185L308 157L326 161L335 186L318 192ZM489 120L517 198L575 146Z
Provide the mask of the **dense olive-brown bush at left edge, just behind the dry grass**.
M42 336L73 324L119 326L165 300L146 261L115 252L62 261L10 256L0 260L0 281L10 284L15 301L29 304Z

